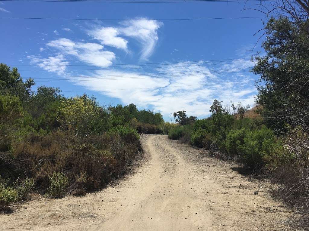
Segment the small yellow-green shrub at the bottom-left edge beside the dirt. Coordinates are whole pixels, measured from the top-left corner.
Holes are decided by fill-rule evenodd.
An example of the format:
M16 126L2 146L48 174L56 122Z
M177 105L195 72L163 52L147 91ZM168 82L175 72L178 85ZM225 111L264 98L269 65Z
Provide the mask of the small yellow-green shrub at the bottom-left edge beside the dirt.
M6 187L6 180L0 176L0 209L6 209L17 199L15 188Z

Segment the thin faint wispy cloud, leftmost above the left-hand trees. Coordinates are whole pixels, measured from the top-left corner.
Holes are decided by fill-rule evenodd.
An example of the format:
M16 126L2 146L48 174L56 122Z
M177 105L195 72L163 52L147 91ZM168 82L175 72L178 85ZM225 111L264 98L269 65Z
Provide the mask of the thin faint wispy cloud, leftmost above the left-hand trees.
M46 71L56 72L59 75L65 74L66 66L69 64L63 55L57 55L55 57L48 58L41 58L40 56L30 55L27 56L27 58L30 59L31 64L36 64Z

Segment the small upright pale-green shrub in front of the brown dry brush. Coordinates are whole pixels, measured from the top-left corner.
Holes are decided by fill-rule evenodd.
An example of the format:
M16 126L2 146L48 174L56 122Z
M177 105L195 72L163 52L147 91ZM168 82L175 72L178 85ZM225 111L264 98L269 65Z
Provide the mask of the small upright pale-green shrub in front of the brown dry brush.
M48 195L55 198L64 196L67 184L68 178L64 173L53 172L53 175L49 176Z

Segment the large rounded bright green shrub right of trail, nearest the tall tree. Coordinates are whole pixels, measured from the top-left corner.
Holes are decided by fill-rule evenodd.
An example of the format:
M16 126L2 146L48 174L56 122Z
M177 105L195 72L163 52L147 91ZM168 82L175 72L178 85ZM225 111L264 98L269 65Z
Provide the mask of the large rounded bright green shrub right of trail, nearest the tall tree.
M246 132L243 144L237 146L237 151L241 153L244 163L251 168L259 169L265 164L265 157L275 152L277 147L273 131L263 125Z

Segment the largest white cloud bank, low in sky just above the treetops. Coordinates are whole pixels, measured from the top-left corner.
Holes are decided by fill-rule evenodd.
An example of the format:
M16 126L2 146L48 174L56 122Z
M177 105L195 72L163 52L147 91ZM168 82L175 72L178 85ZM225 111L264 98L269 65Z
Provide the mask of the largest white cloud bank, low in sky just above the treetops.
M157 71L165 75L154 78L153 73L100 70L95 75L116 79L83 77L82 80L72 78L70 81L120 99L124 104L135 103L139 107L153 108L166 117L171 112L186 110L188 115L203 118L210 114L209 108L214 99L223 100L223 104L232 100L253 105L253 95L256 93L253 82L225 83L239 81L237 75L229 74L226 79L226 74L212 74L203 63L196 65L189 62L162 65Z

